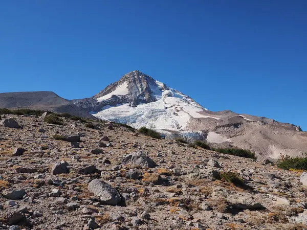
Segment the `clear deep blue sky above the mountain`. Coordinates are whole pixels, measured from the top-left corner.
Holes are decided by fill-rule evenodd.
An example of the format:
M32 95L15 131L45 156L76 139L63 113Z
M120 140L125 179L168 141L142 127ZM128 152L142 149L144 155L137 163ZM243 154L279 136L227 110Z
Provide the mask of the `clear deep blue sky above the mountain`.
M307 130L307 1L1 1L0 92L91 97L140 70Z

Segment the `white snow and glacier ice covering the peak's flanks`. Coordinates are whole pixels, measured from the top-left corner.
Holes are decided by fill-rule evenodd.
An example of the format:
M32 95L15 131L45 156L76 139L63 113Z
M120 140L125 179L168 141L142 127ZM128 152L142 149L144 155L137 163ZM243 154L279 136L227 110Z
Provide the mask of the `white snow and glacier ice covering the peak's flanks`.
M118 86L112 93L109 93L97 100L107 100L112 95L123 96L128 94L128 84L125 82ZM96 114L97 118L109 121L128 124L135 128L146 126L157 130L187 130L190 118L214 118L201 114L207 110L196 103L190 97L180 91L168 88L162 82L156 81L149 83L150 90L156 101L147 104L139 104L131 107L129 104L117 106L105 106ZM163 89L168 88L168 89ZM139 97L139 96L138 96ZM140 96L141 97L141 96Z

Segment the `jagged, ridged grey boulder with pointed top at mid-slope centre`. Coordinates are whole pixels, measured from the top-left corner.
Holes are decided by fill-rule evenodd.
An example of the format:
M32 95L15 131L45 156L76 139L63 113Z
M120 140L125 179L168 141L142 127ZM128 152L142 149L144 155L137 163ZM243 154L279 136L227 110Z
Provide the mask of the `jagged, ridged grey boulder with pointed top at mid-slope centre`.
M125 155L122 159L123 165L139 165L143 168L155 168L156 163L142 150Z

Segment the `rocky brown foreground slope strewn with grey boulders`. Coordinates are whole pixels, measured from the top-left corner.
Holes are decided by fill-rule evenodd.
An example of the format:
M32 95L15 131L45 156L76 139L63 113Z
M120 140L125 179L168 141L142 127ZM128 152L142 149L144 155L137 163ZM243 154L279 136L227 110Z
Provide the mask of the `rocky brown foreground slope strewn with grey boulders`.
M6 117L0 229L307 229L302 172L118 124Z

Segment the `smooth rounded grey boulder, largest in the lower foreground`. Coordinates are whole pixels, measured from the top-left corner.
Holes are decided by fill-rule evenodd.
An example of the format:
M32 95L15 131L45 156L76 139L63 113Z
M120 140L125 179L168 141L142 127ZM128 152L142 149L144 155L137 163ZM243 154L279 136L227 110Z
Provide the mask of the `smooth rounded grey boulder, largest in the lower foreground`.
M117 205L121 202L121 196L111 185L100 179L94 179L87 187L95 196L99 196L100 200L109 205Z

